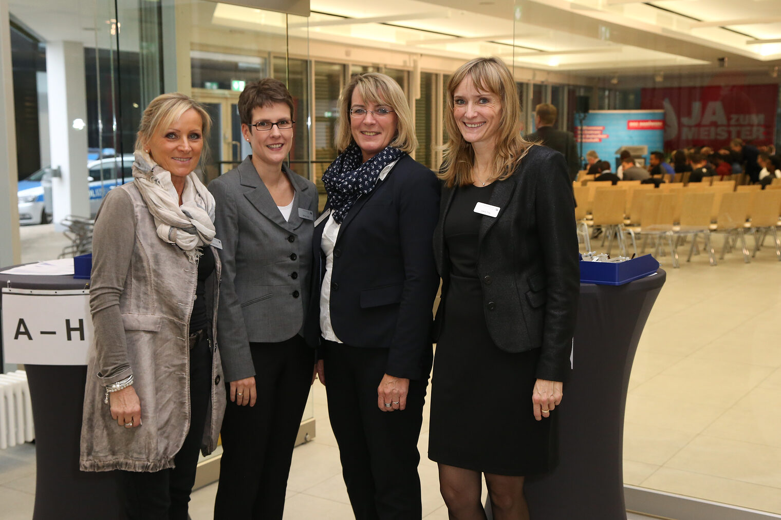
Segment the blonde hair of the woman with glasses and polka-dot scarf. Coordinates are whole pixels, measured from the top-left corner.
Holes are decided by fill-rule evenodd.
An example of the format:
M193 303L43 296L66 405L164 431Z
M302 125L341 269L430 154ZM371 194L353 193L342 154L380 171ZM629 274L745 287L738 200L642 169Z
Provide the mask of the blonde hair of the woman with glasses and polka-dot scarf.
M355 89L358 89L364 102L387 105L396 112L396 135L389 145L412 154L415 148L418 148L415 123L412 123L412 110L409 109L407 98L398 83L392 77L382 73L357 74L342 90L339 96L339 123L336 137L333 139L337 151L341 153L355 142L350 128L352 93Z

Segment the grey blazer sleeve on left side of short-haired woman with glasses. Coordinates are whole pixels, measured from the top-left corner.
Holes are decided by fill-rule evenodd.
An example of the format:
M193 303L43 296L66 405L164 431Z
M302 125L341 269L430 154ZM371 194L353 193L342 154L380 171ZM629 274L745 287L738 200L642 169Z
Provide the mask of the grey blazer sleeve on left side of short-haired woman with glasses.
M217 312L217 344L223 359L223 371L227 381L237 381L255 376L255 365L249 349L247 328L241 313L241 302L236 294L236 251L238 248L239 219L236 208L237 194L231 194L228 181L217 178L209 183L209 191L216 203L214 227L216 237L223 242L219 260L223 264L219 287L219 312Z

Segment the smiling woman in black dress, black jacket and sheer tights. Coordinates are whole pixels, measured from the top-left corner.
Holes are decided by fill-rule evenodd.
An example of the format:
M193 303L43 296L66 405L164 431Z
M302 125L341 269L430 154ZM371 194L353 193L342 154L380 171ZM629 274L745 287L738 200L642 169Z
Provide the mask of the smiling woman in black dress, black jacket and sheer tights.
M505 94L507 93L507 94ZM521 137L507 67L474 59L448 83L450 142L434 233L437 311L429 458L450 518L529 518L524 475L555 461L580 276L564 158Z

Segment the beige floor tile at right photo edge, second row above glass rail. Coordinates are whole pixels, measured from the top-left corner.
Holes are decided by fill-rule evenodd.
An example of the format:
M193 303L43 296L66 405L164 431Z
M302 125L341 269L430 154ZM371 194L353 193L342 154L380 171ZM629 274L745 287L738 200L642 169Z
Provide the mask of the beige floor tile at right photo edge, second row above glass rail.
M665 464L704 475L778 488L781 494L781 448L700 435Z

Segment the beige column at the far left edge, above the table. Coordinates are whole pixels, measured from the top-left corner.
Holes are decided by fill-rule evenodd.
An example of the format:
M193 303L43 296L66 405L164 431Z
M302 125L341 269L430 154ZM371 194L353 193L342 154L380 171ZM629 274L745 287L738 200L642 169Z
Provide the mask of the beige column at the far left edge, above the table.
M8 0L0 0L0 121L0 267L4 267L21 261Z

